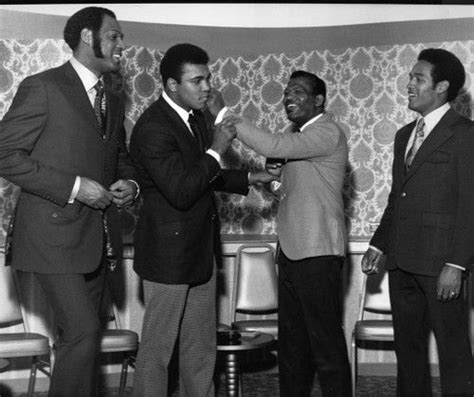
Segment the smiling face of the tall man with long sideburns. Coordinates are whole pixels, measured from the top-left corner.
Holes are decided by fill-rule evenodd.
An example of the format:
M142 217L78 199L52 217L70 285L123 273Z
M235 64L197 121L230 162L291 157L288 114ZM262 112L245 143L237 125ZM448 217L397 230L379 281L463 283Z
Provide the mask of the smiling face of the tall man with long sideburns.
M117 20L104 15L100 30L96 34L92 32L90 34L92 37L92 53L89 55L91 69L98 75L118 72L125 46L122 29Z

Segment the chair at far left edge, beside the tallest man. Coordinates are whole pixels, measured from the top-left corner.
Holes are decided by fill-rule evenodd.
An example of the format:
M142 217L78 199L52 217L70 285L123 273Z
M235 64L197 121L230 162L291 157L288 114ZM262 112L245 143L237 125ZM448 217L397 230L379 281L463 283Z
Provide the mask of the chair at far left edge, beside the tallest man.
M33 396L37 369L50 375L50 348L46 336L28 332L20 297L11 267L0 266L0 328L23 325L23 332L0 333L0 359L31 357L27 392L30 397Z

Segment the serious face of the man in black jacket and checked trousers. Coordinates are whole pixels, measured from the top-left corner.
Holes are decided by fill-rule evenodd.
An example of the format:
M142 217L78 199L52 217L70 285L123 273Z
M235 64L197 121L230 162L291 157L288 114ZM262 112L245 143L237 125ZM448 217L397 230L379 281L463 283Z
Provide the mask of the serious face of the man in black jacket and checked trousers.
M181 69L181 81L169 78L167 93L183 109L200 110L206 106L211 91L211 73L207 65L185 63Z

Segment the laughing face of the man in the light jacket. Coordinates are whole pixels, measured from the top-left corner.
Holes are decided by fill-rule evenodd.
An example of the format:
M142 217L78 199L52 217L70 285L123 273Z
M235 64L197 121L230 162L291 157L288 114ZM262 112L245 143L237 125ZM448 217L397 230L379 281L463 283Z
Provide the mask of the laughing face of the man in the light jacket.
M315 95L307 79L297 77L290 79L283 92L283 106L288 119L298 127L322 113L324 97Z

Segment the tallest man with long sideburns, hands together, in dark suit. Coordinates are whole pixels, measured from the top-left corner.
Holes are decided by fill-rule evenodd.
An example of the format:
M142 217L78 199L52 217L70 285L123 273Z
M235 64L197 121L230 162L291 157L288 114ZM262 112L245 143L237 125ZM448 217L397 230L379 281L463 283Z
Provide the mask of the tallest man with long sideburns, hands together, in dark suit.
M2 121L0 175L21 187L12 266L34 274L60 332L50 396L95 396L101 264L106 248L120 256L117 207L137 186L124 108L106 76L120 69L120 25L110 10L85 8L69 18L64 39L71 60L26 78Z

